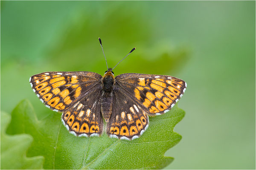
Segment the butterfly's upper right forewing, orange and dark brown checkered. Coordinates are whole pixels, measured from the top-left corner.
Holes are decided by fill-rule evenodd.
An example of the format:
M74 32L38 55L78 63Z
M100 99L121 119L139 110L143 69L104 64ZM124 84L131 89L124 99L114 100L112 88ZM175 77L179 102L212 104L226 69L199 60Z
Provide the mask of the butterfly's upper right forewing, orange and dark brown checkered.
M151 116L169 111L186 90L182 79L164 75L128 73L115 80L115 89L126 93Z

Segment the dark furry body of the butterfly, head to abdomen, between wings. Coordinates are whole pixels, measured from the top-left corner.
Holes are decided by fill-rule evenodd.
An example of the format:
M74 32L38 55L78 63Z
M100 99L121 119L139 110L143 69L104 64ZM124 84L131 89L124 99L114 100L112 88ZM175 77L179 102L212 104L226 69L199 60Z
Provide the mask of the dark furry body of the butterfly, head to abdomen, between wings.
M101 99L101 112L105 121L108 122L112 113L112 105L113 105L113 86L114 86L114 74L108 69L102 77L102 99Z

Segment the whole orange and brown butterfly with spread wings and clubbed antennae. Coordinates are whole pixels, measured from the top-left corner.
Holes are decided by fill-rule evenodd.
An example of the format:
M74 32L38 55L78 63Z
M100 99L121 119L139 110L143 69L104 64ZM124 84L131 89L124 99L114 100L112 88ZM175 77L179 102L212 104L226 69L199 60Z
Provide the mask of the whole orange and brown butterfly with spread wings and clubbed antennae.
M102 48L100 38L99 42ZM140 137L148 128L148 116L168 112L186 90L186 82L176 77L136 73L114 77L114 68L104 76L89 71L44 72L29 82L47 108L62 112L61 121L73 135L100 136L106 129L109 137L127 140Z

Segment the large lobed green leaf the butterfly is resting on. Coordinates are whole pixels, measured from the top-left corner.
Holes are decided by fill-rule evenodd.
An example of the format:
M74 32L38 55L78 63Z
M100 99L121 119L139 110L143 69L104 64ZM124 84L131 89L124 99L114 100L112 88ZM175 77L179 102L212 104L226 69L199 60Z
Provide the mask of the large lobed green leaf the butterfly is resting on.
M101 137L76 137L62 125L61 114L50 114L38 121L27 100L12 112L9 133L28 133L34 137L30 156L43 155L45 169L161 169L173 161L164 156L181 136L173 132L184 111L172 111L151 117L143 135L133 141Z

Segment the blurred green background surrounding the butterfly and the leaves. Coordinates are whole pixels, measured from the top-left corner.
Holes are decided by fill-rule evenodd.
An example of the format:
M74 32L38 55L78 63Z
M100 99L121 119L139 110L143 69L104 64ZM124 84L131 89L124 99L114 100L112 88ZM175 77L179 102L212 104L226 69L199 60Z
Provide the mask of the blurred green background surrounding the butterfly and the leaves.
M255 1L1 1L1 110L44 71L166 74L187 82L166 169L255 169Z

